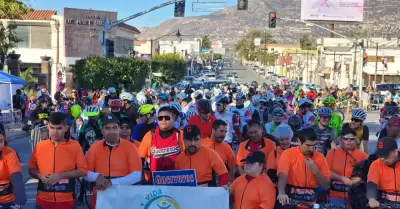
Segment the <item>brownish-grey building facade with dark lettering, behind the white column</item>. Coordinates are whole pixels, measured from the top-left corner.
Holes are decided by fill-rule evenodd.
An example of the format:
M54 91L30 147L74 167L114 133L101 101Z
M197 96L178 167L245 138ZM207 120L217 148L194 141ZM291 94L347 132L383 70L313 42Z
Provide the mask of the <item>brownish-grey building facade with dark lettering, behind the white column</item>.
M64 8L65 56L86 57L103 55L99 44L99 33L103 31L104 20L117 20L116 12ZM111 39L116 29L110 31Z

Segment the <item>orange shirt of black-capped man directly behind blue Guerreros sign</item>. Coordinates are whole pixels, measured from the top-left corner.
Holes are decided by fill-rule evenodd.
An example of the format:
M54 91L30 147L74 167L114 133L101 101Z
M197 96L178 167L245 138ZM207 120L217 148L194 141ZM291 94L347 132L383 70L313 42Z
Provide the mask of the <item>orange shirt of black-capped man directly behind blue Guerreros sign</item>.
M175 161L176 170L196 170L197 185L214 183L212 173L215 171L218 176L228 173L226 166L218 153L207 147L200 147L193 155L183 152L178 155Z

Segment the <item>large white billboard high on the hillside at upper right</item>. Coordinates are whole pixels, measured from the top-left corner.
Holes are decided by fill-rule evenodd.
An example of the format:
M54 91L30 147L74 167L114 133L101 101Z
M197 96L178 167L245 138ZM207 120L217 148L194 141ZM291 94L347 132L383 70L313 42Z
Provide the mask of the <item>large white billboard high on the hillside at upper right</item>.
M362 22L364 0L301 0L301 19Z

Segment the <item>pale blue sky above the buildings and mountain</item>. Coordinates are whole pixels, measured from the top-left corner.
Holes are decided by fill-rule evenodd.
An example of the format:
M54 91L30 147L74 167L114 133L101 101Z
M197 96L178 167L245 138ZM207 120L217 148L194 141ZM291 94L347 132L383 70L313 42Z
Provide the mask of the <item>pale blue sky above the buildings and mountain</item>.
M167 1L168 0L28 0L33 9L57 10L58 15L62 15L64 7L69 7L118 12L118 19L158 6ZM226 2L227 6L236 4L236 0L186 0L185 16L199 16L210 13L193 12L192 2L194 1ZM215 6L210 7L215 8ZM128 21L127 23L137 28L154 27L171 18L174 18L174 5L169 5L150 12L134 20Z

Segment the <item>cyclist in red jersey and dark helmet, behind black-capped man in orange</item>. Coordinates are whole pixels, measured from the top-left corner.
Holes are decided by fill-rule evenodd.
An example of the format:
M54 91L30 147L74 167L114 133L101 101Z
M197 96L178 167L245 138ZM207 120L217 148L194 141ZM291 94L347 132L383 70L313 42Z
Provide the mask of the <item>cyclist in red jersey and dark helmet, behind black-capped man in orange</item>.
M212 112L211 103L206 99L201 99L197 101L196 107L199 114L191 117L188 125L199 127L202 139L210 137L212 123L217 119Z

